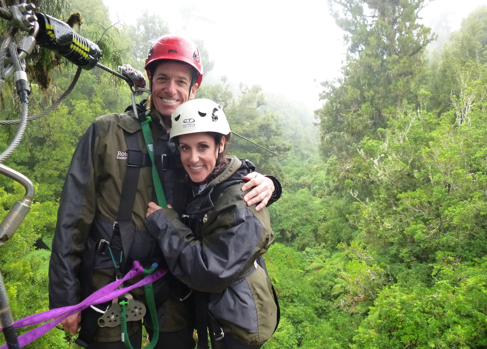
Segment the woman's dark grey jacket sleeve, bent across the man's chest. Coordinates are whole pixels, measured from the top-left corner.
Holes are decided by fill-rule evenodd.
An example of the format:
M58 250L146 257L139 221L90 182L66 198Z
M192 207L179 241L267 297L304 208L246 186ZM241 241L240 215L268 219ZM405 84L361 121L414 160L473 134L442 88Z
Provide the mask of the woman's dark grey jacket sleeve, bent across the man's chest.
M209 227L203 228L198 240L179 219L174 210L159 209L145 224L158 239L171 273L190 288L203 292L221 292L239 279L255 259L261 256L273 241L269 214L266 209L247 208L241 198L241 186L228 193L226 204L215 205L216 216ZM230 189L229 188L229 189ZM234 200L228 201L228 195Z

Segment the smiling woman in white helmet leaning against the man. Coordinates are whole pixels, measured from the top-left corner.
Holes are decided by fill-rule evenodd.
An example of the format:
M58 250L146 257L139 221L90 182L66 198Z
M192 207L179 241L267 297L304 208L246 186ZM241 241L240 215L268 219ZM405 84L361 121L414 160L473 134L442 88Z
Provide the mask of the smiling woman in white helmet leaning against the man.
M225 157L230 126L221 107L194 99L172 114L170 138L193 187L183 221L149 204L145 224L170 271L195 291L198 348L260 348L278 322L277 300L262 254L274 239L267 209L246 206L249 163Z

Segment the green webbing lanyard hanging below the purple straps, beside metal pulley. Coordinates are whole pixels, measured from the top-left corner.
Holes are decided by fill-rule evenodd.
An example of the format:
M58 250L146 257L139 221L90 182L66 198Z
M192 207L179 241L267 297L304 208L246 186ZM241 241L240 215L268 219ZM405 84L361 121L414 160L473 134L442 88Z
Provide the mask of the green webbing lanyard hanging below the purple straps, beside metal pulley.
M144 269L143 277L148 277L152 273L156 271L157 263L152 264L152 267L149 269ZM156 311L156 303L154 302L154 290L152 289L152 283L144 286L144 293L145 293L145 302L147 302L147 306L149 307L150 318L152 321L152 328L154 329L154 336L150 341L149 345L144 349L153 349L157 341L159 339L159 321L157 319L157 311ZM121 317L121 329L122 329L122 342L125 344L125 347L128 349L134 349L132 344L130 344L129 340L129 333L127 331L127 304L129 302L127 300L119 302L120 306L122 307Z

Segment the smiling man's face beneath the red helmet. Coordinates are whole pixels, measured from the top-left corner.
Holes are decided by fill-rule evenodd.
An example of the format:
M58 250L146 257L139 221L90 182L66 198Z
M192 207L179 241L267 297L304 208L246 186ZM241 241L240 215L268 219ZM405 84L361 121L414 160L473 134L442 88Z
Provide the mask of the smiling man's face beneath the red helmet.
M172 112L189 99L193 99L198 88L191 84L191 68L186 64L167 61L159 63L152 77L152 104L163 119L170 119Z

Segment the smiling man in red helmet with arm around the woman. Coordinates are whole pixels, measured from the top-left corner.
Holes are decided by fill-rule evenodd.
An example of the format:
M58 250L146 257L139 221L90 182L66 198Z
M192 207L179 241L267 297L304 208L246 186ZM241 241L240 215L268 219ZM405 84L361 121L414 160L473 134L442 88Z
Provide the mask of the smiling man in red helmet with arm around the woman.
M184 190L178 182L182 176L181 168L174 165L175 146L169 142L170 119L179 105L194 98L201 85L201 57L191 41L179 36L163 36L151 47L145 69L152 91L150 130L154 139L155 166L167 203L178 211L184 199L178 193ZM144 113L146 107L143 102L138 106L138 113ZM153 262L164 265L157 242L143 224L147 204L154 201L151 163L147 156L140 156L146 153L145 149L139 119L130 108L123 115L108 114L97 118L80 140L63 188L52 244L49 263L51 308L77 304L94 290L113 281L115 274L121 274L123 265L130 267L132 260L138 260L144 266ZM138 160L129 163L134 154ZM135 172L134 167L138 168ZM129 177L129 171L135 177ZM278 186L277 196L280 196L277 181L275 185L272 179L255 172L247 179L249 182L242 190L254 187L244 197L249 206L260 202L257 209L265 207L275 186ZM132 196L126 194L131 187L135 189ZM120 212L125 215L122 217ZM117 252L115 242L126 243L121 236L127 229L133 242L128 244L128 249L120 248ZM124 262L118 263L122 257ZM169 296L169 293L175 293L174 289L184 291L184 287L171 276L155 282L154 287L162 331L156 348L194 348L191 298L180 301L179 296ZM143 300L142 290L134 290L133 295ZM100 308L105 310L106 304ZM78 333L81 325L78 343L87 348L124 348L120 327L98 327L96 320L100 316L88 310L83 317L81 313L70 316L62 325L73 334ZM144 325L152 336L154 329L147 318ZM141 322L128 322L127 326L133 346L140 348Z

